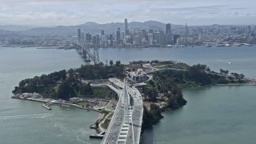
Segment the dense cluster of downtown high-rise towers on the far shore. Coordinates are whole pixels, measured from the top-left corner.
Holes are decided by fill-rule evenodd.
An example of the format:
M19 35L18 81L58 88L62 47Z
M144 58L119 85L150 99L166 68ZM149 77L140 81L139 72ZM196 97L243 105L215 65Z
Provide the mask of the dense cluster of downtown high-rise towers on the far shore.
M183 39L185 43L188 42L187 26L186 34ZM168 46L181 41L179 34L172 34L170 23L166 24L165 30L130 30L128 21L124 21L124 31L120 27L117 28L113 34L105 34L101 30L100 34L84 33L78 29L78 39L90 42L91 46L101 47L147 47L147 46Z

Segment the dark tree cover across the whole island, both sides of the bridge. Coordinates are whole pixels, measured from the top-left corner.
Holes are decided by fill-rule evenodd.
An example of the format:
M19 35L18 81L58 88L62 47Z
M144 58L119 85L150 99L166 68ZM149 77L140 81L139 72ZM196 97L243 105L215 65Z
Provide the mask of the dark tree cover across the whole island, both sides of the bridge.
M90 86L86 80L126 78L130 71L143 70L148 75L146 86L139 87L144 102L143 127L153 125L162 118L164 110L175 110L186 105L182 88L214 84L254 82L246 79L244 74L220 70L211 71L206 65L188 66L174 61L138 61L123 65L120 61L110 61L109 66L82 65L77 69L60 70L51 74L27 78L15 86L13 94L38 93L43 98L113 98L106 87ZM128 77L127 77L128 78ZM130 83L138 83L130 79ZM254 82L255 83L255 82ZM87 103L81 103L86 106ZM104 109L102 113L105 113ZM109 122L110 120L106 121ZM103 125L106 125L103 123ZM104 126L106 127L106 126Z

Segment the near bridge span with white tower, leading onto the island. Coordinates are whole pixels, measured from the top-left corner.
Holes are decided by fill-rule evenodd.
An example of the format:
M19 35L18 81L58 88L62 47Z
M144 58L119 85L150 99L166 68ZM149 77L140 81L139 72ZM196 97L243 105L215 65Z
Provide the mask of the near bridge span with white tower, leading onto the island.
M110 82L122 89L119 93L118 104L111 118L102 144L138 144L140 141L143 117L142 95L128 82L110 78Z

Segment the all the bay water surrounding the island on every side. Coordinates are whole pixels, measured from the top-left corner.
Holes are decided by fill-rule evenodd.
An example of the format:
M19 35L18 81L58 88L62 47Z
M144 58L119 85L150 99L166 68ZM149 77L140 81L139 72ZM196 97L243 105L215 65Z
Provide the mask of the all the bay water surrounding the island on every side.
M256 46L230 48L100 49L107 59L176 60L202 63L212 70L230 70L256 78ZM229 64L232 62L232 64ZM0 143L99 143L89 126L98 113L11 99L11 90L24 78L78 67L84 62L75 50L0 47ZM183 90L186 106L164 113L165 118L142 134L142 143L255 143L256 86L203 86Z

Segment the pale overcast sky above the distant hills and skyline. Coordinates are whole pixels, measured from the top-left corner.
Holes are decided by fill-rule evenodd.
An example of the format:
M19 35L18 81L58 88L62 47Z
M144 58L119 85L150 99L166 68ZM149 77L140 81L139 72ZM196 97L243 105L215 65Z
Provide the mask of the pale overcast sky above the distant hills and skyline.
M70 26L85 22L256 24L255 0L0 0L0 25Z

